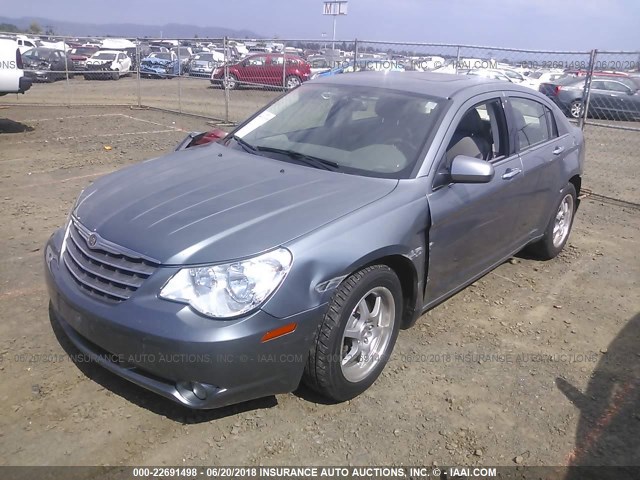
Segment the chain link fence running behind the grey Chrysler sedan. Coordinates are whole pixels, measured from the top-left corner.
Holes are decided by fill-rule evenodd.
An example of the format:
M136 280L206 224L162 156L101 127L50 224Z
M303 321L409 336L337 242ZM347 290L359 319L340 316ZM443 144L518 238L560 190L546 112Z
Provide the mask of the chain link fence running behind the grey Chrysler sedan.
M24 96L2 97L2 103L124 105L202 116L220 124L240 122L315 77L364 70L477 75L551 98L584 129L594 168L606 169L614 162L630 169L630 162L623 160L637 157L640 149L640 51L357 39L65 37L23 51L23 63L36 83ZM625 174L628 179L635 176L631 170ZM618 187L602 185L611 192ZM637 192L635 186L627 187Z

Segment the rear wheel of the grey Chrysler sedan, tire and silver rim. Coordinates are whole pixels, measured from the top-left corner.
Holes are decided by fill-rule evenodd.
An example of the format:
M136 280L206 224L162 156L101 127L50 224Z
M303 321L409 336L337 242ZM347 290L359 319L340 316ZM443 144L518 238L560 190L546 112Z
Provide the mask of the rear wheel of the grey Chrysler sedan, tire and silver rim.
M531 245L533 253L540 259L551 260L562 251L571 233L576 205L576 189L569 183L560 194L544 236Z

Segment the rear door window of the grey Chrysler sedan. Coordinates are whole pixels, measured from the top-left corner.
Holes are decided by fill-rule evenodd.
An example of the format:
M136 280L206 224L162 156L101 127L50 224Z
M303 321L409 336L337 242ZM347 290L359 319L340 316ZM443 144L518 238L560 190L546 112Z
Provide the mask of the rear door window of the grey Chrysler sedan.
M511 98L514 128L520 151L551 138L546 107L526 98Z

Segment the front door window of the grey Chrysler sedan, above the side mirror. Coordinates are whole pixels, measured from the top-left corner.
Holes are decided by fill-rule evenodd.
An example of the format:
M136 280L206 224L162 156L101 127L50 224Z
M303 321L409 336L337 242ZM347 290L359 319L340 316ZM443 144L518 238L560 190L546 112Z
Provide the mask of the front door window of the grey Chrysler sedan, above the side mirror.
M507 128L500 99L479 103L467 110L446 152L446 168L458 155L492 161L508 153Z

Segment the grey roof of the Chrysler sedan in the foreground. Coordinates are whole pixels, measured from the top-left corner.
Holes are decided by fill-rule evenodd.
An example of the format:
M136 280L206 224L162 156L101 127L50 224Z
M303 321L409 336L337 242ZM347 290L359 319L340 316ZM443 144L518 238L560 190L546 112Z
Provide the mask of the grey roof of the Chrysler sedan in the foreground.
M455 75L433 72L358 72L312 80L313 83L332 83L339 85L358 85L371 88L388 88L433 97L452 98L463 90L475 89L478 93L493 90L505 90L505 82L473 75ZM530 92L515 84L509 84L508 90Z

